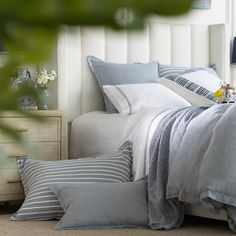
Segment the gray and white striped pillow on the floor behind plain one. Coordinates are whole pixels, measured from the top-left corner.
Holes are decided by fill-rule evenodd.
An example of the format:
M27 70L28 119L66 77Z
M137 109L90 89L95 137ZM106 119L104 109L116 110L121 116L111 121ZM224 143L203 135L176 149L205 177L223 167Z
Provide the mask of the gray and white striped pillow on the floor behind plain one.
M11 217L13 220L60 219L64 212L50 190L55 183L128 182L131 180L132 143L118 152L97 158L62 161L17 160L25 191L25 201Z

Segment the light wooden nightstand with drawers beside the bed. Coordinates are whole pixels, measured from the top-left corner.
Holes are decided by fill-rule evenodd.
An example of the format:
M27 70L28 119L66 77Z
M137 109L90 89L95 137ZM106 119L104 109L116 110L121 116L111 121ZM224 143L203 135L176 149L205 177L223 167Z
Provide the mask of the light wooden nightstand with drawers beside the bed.
M45 119L36 122L25 115L4 112L0 122L22 133L24 147L0 133L0 201L24 198L16 158L27 156L34 160L67 159L67 120L64 113L54 110L32 111Z

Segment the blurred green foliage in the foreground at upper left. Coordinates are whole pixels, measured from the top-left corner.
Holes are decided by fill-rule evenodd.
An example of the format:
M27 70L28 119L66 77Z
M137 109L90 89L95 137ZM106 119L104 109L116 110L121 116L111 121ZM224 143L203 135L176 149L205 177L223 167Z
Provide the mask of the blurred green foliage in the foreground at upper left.
M114 29L138 29L149 14L177 15L187 12L193 0L0 0L0 41L8 54L0 68L0 112L21 111L19 93L9 90L12 71L20 65L38 64L46 60L63 25L105 25ZM129 21L117 18L126 8L132 12ZM19 137L0 124L0 131Z

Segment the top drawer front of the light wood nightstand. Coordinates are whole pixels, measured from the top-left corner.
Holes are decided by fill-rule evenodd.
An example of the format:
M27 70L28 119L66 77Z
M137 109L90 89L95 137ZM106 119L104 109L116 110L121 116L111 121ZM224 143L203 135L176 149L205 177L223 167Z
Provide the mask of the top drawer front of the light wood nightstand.
M32 119L0 118L0 122L8 124L22 134L27 141L58 141L60 140L60 117L47 117L44 122L36 122ZM0 142L12 141L8 136L0 134Z

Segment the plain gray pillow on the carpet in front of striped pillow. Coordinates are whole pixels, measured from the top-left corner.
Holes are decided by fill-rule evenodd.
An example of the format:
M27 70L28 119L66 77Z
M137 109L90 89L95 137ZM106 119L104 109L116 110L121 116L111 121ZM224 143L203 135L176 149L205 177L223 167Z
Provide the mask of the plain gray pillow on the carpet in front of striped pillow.
M53 184L65 215L57 229L147 227L146 180Z

